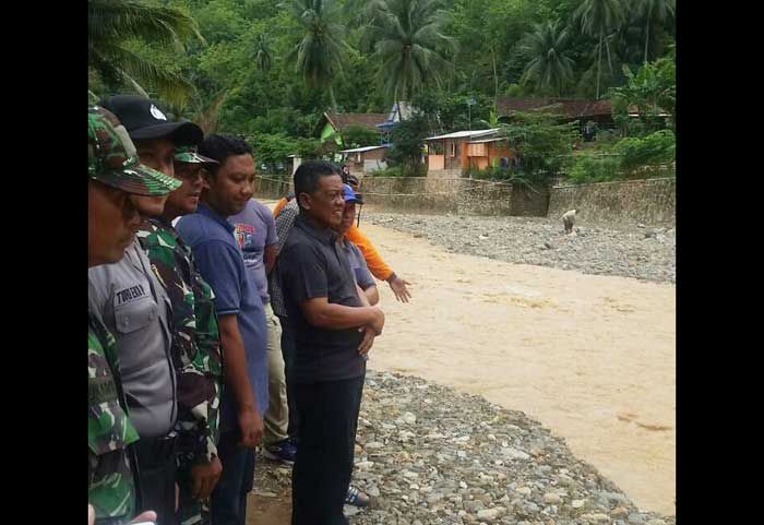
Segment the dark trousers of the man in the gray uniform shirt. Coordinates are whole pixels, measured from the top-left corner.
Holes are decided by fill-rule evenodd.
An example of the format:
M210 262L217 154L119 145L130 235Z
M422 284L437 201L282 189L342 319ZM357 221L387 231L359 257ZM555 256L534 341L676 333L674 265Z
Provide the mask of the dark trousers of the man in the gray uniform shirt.
M157 525L177 525L176 460L172 440L141 438L134 445L139 472L139 514L155 511Z

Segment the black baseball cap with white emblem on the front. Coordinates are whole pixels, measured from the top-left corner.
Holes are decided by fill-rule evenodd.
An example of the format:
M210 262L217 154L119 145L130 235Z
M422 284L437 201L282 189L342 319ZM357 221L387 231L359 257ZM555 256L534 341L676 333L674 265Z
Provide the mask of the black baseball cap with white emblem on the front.
M176 145L196 145L204 140L204 131L199 126L170 120L151 98L115 95L100 105L117 116L133 141L169 139Z

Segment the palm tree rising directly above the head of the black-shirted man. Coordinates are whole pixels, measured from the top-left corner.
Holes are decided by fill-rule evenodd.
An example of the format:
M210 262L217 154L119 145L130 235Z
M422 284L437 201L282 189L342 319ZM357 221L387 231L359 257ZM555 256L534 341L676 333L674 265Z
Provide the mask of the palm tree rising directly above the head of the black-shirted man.
M289 0L282 4L291 10L305 29L300 43L290 58L297 57L296 71L302 74L309 87L326 87L332 108L336 110L332 82L342 73L345 52L348 49L343 38L345 27L337 20L334 0Z

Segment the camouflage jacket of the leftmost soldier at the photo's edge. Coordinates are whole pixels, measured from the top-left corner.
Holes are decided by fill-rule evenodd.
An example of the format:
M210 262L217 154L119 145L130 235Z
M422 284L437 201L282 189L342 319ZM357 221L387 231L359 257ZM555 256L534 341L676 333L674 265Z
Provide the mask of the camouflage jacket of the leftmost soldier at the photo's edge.
M135 513L129 445L138 441L138 431L128 417L115 338L89 312L87 404L87 502L96 520L123 517L127 523Z

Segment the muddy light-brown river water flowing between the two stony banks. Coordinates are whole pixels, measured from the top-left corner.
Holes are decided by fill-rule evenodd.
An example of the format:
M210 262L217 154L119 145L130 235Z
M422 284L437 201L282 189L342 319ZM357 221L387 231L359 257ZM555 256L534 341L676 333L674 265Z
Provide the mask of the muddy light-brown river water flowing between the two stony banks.
M380 285L387 320L370 368L523 410L640 508L676 512L672 285L514 265L362 228L416 284L408 305Z

